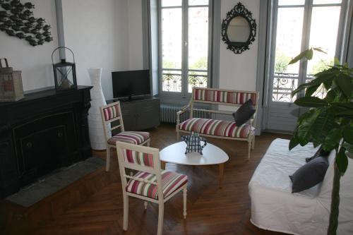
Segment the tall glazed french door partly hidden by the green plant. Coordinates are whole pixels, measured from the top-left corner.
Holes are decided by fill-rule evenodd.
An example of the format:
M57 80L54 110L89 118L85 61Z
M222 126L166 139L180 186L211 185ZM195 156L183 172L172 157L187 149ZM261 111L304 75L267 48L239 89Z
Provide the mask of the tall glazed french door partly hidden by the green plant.
M297 118L304 112L291 96L313 74L333 65L340 58L345 22L345 0L274 0L273 40L270 45L270 76L265 128L275 131L294 131ZM326 54L314 52L311 61L287 66L289 61L309 47L320 47ZM318 88L316 96L325 97L325 89Z

